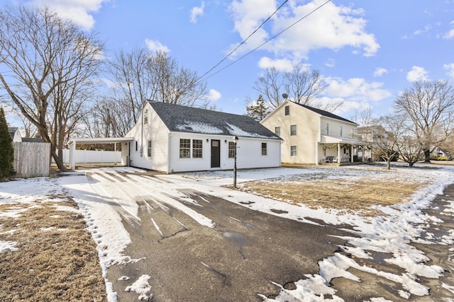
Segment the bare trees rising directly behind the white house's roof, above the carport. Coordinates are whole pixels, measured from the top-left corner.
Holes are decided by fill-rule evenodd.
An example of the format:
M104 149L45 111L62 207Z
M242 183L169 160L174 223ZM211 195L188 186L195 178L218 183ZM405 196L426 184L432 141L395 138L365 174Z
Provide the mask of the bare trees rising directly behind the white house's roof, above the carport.
M100 133L124 135L138 122L140 110L148 100L207 108L206 83L199 81L195 71L179 66L165 52L149 52L144 47L131 52L120 51L108 63L111 83L109 98L102 98L85 117L89 136ZM94 119L102 120L102 123ZM101 127L101 129L95 129Z

